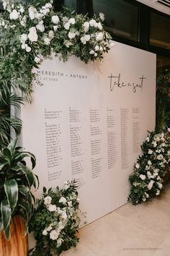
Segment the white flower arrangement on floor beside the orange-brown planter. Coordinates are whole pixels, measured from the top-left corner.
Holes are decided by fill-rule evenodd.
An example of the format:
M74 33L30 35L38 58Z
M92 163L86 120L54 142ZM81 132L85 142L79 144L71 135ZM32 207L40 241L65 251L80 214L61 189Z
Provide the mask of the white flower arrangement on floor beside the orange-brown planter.
M66 182L63 187L45 189L37 202L37 209L30 221L36 245L32 256L60 255L63 250L76 247L80 226L79 197L76 182Z

